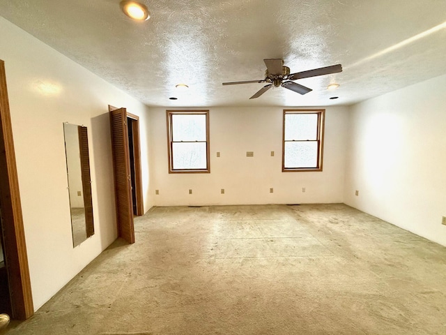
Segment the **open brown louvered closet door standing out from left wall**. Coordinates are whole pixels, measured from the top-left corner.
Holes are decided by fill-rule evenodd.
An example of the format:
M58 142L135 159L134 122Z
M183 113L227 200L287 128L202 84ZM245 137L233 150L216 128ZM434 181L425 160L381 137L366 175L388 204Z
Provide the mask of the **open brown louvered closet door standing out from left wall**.
M127 112L125 108L112 110L110 112L110 121L112 125L118 236L128 241L128 243L134 243L130 156L128 151Z

